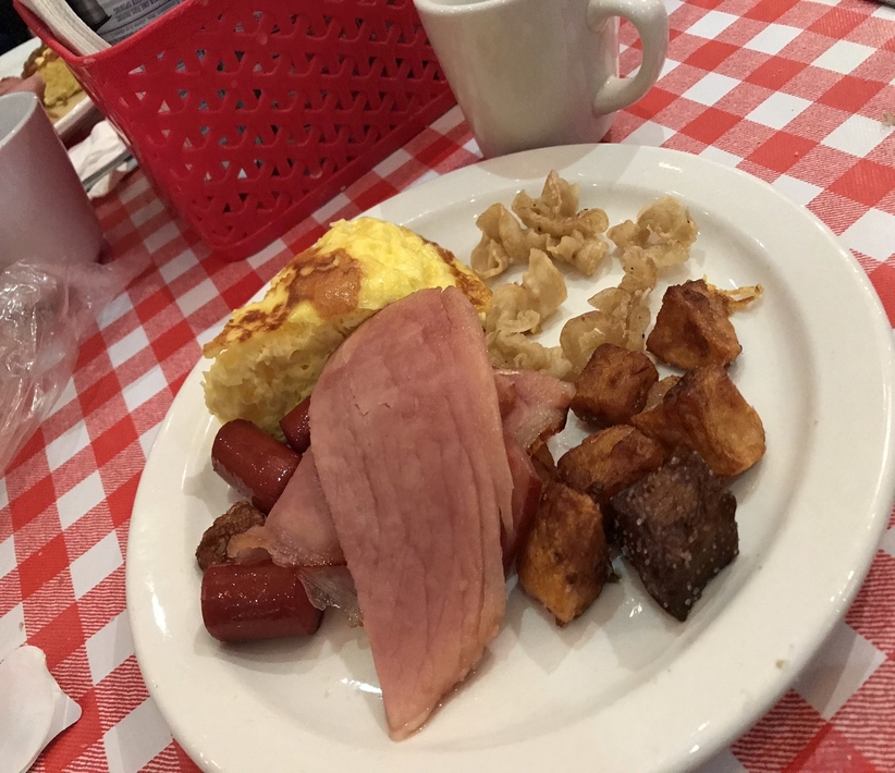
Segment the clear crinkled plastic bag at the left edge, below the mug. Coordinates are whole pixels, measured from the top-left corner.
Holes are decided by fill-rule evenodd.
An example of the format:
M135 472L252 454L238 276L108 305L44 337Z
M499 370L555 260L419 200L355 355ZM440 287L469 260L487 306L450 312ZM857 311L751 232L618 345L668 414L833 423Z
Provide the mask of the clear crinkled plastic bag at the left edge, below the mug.
M0 476L52 410L123 266L20 261L0 272Z

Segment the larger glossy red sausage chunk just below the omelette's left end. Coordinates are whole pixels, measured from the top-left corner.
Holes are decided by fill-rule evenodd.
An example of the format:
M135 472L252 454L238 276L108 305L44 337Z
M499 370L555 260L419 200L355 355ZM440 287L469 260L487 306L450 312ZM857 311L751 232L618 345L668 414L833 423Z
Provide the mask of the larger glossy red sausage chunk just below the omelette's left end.
M246 419L228 421L211 445L214 471L262 513L270 513L301 461L299 454Z

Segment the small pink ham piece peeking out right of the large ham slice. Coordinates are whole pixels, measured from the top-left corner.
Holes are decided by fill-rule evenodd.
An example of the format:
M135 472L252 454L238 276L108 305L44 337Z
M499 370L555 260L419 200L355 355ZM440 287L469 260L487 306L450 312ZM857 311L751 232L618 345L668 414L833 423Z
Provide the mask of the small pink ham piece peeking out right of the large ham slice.
M494 370L504 429L528 453L562 431L575 387L537 370Z

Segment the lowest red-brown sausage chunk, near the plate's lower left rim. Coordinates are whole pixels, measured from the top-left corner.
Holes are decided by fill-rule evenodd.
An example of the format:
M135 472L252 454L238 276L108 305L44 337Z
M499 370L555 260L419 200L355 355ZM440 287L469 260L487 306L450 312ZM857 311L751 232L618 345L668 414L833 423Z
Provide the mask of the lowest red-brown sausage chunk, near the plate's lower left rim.
M308 636L320 627L296 569L216 564L203 575L203 622L221 641Z

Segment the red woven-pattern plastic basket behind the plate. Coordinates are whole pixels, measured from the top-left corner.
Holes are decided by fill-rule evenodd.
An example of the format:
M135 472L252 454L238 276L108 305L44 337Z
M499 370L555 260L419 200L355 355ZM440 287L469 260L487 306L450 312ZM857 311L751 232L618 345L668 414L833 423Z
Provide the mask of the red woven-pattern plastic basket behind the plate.
M27 9L140 167L243 258L455 103L412 0L186 0L76 57Z

